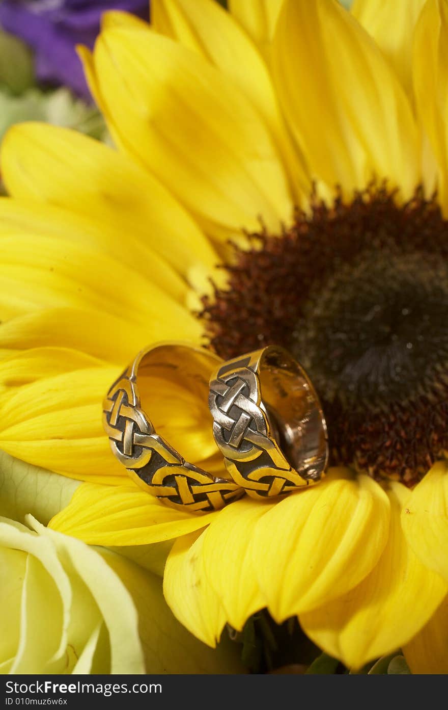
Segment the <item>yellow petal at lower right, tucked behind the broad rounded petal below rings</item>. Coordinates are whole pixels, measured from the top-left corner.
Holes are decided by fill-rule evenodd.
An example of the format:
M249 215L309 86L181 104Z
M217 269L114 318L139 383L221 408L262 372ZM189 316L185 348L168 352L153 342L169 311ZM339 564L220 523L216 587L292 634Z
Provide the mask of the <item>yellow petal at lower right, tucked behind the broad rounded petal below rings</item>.
M447 594L447 582L420 562L401 530L409 496L408 488L391 484L388 542L368 577L339 599L301 614L305 633L348 667L362 667L407 643Z

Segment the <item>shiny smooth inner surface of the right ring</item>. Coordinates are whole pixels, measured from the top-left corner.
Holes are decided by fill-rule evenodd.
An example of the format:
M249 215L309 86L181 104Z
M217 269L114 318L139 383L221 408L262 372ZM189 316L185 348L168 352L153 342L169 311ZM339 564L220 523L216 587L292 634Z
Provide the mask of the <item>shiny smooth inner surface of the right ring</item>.
M327 427L303 368L282 349L267 349L259 366L271 435L303 478L319 479L327 464Z

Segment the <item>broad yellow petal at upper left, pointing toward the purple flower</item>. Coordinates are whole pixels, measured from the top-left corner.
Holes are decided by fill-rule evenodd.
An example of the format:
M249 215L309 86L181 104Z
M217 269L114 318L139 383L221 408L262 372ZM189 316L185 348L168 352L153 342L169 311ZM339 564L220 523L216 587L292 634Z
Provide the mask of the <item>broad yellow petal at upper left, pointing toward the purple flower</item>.
M100 35L94 65L123 148L196 217L230 231L289 219L269 131L222 72L162 35L121 28Z

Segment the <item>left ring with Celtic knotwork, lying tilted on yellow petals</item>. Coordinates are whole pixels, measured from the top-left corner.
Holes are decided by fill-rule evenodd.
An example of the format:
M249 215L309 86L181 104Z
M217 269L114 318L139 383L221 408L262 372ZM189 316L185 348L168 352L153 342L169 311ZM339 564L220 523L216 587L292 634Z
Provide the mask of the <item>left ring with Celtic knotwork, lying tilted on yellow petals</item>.
M118 461L140 488L174 508L218 510L244 491L188 463L155 432L142 409L138 380L155 376L181 382L196 396L208 393L208 376L220 362L202 348L162 343L142 350L113 383L103 402L103 427ZM218 452L217 452L218 453Z

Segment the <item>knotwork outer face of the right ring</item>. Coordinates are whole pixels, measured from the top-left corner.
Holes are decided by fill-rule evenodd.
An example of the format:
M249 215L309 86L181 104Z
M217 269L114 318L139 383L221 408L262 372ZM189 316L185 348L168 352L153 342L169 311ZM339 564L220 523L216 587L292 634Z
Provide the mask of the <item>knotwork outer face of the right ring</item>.
M210 383L213 435L233 480L253 498L281 496L307 486L271 433L262 403L257 351L221 366Z

